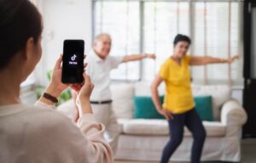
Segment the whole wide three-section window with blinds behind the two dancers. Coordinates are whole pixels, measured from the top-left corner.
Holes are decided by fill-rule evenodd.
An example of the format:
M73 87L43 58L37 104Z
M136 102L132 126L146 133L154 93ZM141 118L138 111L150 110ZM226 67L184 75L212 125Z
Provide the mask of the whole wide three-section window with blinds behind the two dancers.
M111 8L111 9L110 9ZM160 65L173 53L177 33L189 35L191 55L227 59L242 54L242 1L94 1L94 36L108 32L113 37L112 55L155 53L113 70L118 80L151 81ZM193 66L193 82L242 83L242 59L232 65Z

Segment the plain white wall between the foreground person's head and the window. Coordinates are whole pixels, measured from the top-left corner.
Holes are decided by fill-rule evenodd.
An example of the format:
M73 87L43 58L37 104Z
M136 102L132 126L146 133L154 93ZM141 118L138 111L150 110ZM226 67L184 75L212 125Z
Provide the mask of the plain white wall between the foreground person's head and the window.
M91 47L92 4L90 0L38 0L44 20L43 55L35 70L38 84L46 85L46 72L53 69L65 39L84 39L85 52Z

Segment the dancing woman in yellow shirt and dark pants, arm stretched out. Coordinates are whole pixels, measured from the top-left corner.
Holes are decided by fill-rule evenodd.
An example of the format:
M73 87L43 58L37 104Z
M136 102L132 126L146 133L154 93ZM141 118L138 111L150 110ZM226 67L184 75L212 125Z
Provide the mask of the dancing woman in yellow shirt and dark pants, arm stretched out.
M183 140L183 128L187 126L192 132L194 143L191 152L191 162L199 163L201 151L206 138L206 130L201 118L195 110L195 103L190 87L190 65L208 65L232 63L239 57L232 59L218 59L212 57L196 57L187 55L191 41L189 37L178 34L174 39L174 53L161 65L160 73L151 85L152 98L157 111L166 117L169 122L171 135L161 157L161 163L169 161L173 152ZM160 104L157 91L161 82L166 83L164 104Z

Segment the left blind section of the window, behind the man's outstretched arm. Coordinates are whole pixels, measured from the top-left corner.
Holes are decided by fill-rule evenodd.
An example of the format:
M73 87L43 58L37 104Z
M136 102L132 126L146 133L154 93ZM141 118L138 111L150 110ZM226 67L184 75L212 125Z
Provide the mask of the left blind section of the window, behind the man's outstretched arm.
M112 37L113 56L140 53L140 17L138 2L96 2L95 36L107 32ZM111 72L114 80L138 80L140 63L130 62L119 65Z

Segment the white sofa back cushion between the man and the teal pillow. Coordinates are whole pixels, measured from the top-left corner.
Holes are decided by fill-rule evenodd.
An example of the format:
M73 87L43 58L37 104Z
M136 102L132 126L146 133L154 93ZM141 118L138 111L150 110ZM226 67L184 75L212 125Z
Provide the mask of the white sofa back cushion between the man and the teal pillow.
M131 83L114 83L110 87L112 109L118 118L132 118L134 86Z

